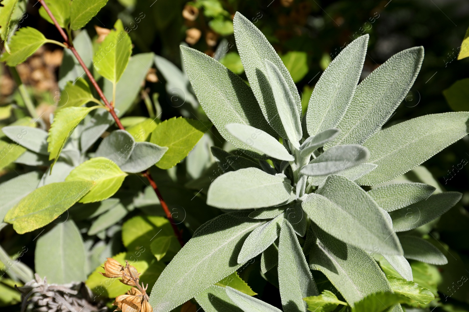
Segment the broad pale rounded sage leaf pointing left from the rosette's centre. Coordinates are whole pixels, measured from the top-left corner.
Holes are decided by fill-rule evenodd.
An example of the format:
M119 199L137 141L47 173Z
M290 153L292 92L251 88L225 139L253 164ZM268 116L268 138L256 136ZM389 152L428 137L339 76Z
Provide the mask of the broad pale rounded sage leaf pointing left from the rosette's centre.
M290 198L292 188L284 177L257 168L227 172L210 185L207 204L217 208L251 209L283 203Z

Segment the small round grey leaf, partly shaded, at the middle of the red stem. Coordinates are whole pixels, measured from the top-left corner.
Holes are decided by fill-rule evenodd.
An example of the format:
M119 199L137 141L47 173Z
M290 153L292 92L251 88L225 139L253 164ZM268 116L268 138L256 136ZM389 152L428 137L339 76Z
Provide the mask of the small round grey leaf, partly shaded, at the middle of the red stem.
M121 166L129 160L135 145L135 140L129 132L115 130L99 144L95 156L105 157Z

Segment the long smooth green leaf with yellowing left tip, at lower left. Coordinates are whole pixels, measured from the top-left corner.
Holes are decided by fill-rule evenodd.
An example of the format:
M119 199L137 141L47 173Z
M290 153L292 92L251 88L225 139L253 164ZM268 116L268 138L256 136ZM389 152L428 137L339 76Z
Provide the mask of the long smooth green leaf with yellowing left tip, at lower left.
M19 234L31 232L49 224L93 186L92 181L50 183L23 197L5 216Z

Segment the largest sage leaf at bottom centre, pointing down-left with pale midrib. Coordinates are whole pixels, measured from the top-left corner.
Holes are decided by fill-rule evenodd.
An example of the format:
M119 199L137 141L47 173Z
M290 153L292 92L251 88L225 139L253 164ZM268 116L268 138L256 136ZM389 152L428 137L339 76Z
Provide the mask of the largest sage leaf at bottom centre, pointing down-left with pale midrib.
M153 286L153 311L169 312L241 267L237 255L242 242L261 224L235 213L199 227Z

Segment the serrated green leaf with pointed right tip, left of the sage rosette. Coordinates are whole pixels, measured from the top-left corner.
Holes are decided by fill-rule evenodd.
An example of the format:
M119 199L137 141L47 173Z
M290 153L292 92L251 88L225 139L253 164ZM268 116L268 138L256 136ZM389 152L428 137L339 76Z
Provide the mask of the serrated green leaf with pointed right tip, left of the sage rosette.
M168 150L156 164L161 169L169 169L183 160L212 126L189 118L167 119L159 123L151 133L150 142L166 146Z

